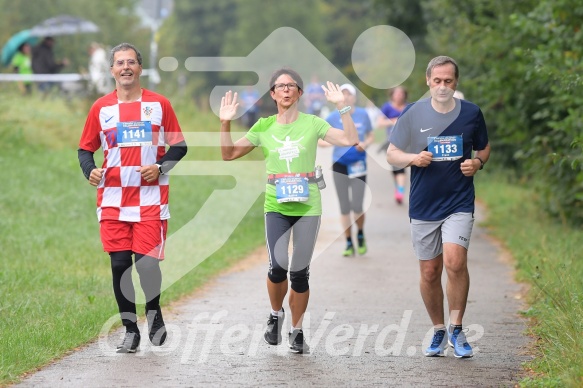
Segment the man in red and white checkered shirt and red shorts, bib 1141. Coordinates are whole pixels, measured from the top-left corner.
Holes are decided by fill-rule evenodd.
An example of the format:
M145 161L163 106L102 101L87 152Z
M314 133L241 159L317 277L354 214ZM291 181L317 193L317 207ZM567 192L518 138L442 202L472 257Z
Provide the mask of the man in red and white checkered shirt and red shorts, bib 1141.
M109 64L116 90L91 107L78 156L83 174L97 187L101 242L111 258L113 290L126 328L117 352L134 353L140 331L132 255L146 296L150 341L156 346L166 341L160 310L160 261L170 218L167 174L187 147L170 102L140 86L140 52L122 43L111 50ZM100 147L104 160L97 168L93 153Z

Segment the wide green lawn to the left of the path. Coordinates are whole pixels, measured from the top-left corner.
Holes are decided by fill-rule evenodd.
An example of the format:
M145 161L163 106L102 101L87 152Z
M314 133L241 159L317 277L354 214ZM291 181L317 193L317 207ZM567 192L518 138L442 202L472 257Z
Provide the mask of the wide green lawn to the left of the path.
M77 161L88 108L86 101L0 92L0 386L93 340L117 312L109 258L99 239L95 189ZM185 103L177 106L177 114L184 131L218 129L215 116ZM219 158L218 148L192 147L185 161ZM231 188L232 181L228 176L172 177L168 235L187 224L215 190ZM262 210L260 196L229 242L167 288L162 303L191 293L262 245ZM163 271L171 263L168 257Z

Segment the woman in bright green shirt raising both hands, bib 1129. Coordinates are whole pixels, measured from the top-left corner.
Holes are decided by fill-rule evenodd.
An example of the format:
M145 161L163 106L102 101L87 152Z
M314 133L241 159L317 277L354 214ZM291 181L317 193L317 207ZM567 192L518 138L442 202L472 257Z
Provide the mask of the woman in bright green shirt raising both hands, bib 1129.
M283 300L288 291L288 268L291 290L289 305L291 329L289 346L293 352L307 353L302 319L308 306L309 268L322 214L320 191L314 166L318 139L337 146L358 143L358 133L340 86L328 82L322 86L326 99L341 113L345 130L332 128L323 119L302 113L298 101L303 94L303 81L292 69L276 70L271 76L270 96L277 114L259 119L247 134L233 143L231 120L236 116L237 93L227 92L221 100L221 153L223 160L234 160L261 147L266 163L265 235L269 253L267 291L271 313L264 334L270 345L282 341ZM293 231L291 262L288 246Z

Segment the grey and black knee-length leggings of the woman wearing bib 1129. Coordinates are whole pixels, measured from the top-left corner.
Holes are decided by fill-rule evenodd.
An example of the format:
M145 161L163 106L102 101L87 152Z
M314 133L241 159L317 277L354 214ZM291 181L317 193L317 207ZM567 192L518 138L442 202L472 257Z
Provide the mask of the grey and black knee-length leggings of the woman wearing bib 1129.
M286 216L265 213L265 239L269 254L267 276L273 283L281 283L289 277L291 288L303 293L309 290L310 262L314 254L316 237L320 229L320 216ZM288 248L293 230L291 265Z

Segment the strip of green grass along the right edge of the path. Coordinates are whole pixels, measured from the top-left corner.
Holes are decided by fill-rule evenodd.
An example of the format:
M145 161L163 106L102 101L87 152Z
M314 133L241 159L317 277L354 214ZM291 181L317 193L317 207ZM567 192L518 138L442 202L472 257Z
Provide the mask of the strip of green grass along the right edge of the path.
M484 170L486 172L486 170ZM480 176L477 192L487 226L510 251L518 280L531 285L529 334L536 358L523 386L583 385L583 231L550 219L536 192L509 183L500 171Z

